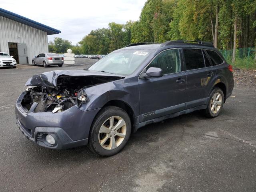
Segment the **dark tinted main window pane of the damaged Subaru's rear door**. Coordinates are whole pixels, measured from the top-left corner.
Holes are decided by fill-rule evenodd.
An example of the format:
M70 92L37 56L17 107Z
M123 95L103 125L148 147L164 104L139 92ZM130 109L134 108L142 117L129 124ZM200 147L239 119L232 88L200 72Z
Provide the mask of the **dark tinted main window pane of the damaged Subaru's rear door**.
M204 68L204 56L201 49L183 49L186 70Z

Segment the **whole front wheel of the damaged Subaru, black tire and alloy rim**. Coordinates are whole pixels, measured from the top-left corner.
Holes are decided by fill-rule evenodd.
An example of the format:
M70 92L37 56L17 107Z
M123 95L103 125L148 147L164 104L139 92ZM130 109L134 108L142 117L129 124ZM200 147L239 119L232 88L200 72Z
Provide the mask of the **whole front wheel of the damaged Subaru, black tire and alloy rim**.
M112 156L124 148L131 134L131 120L125 110L107 106L95 117L89 147L101 156Z

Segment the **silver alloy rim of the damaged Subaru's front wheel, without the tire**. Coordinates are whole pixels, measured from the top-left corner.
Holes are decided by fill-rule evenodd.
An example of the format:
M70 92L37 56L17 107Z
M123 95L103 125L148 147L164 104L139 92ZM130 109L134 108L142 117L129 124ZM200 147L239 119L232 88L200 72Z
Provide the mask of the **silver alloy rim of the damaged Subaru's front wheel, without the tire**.
M126 122L120 116L108 118L100 127L98 134L102 148L112 150L120 146L126 136Z

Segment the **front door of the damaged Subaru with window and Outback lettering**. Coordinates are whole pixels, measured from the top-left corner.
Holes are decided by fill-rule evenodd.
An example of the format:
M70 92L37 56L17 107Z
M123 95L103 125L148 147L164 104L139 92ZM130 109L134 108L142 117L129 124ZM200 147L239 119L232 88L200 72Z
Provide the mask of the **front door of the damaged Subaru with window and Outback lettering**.
M140 122L185 109L186 74L181 67L179 49L165 50L149 64L163 70L158 78L139 78Z

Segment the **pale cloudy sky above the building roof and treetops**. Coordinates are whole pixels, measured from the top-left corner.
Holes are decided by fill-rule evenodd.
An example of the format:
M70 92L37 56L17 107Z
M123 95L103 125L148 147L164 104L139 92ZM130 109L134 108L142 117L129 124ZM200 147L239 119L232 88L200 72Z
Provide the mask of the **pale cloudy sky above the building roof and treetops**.
M0 8L61 31L60 37L76 45L91 30L139 19L146 0L0 0Z

